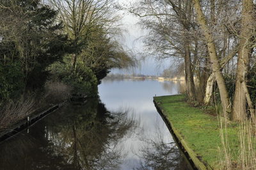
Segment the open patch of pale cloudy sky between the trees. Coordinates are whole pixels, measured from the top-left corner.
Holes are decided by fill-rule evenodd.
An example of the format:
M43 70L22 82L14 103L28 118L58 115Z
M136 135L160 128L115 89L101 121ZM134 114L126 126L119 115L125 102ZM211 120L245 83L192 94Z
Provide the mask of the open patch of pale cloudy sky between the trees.
M129 3L134 2L134 0L118 0L121 6L129 5ZM160 75L164 68L170 66L170 59L166 61L156 61L154 57L147 57L141 61L141 53L145 52L143 37L147 36L147 30L142 29L139 25L139 18L132 15L131 13L120 11L118 15L122 16L120 20L122 24L122 29L124 35L120 43L124 49L132 50L136 58L140 60L140 65L136 68L131 68L129 70L118 70L113 69L111 73L140 73L144 75ZM145 56L145 55L144 55Z

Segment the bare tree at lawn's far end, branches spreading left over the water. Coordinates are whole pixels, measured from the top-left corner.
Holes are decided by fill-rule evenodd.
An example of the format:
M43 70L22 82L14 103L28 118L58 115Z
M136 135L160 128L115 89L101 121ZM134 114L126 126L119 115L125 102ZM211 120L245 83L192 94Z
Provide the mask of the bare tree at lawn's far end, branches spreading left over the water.
M184 58L186 88L189 100L196 100L193 70L196 50L193 49L193 5L191 1L140 1L129 12L141 17L141 25L150 30L145 40L148 49L160 58ZM152 48L153 47L153 48ZM193 50L192 50L193 49Z

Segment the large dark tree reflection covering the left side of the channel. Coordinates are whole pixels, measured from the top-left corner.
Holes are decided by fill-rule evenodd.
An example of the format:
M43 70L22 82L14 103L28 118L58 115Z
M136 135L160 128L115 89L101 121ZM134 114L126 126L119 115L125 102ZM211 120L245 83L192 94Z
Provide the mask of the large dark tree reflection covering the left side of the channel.
M79 108L68 105L31 129L30 137L19 137L3 145L5 152L0 148L0 167L118 169L124 156L117 145L118 139L134 125L134 120L127 118L127 112L109 113L104 104L97 101ZM20 147L12 150L10 144ZM11 164L15 157L22 157L16 166Z

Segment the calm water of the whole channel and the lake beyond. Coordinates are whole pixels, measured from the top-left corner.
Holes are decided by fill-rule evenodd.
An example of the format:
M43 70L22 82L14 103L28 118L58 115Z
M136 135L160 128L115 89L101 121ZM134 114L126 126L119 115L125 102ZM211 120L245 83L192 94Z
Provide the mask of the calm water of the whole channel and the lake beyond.
M65 105L0 144L0 169L188 169L152 102L179 86L105 79L100 100Z

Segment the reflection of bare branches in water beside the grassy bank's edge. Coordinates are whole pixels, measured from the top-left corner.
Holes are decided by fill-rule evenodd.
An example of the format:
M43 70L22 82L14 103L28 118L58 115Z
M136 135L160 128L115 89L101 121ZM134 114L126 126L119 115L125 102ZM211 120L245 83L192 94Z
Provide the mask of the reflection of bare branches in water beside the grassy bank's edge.
M144 135L140 136L140 141L144 144L140 151L135 153L140 157L140 167L137 169L191 169L185 158L182 157L177 144L171 138L171 134L167 134L170 135L169 137L164 134L164 129L167 128L166 125L161 127L159 122L156 121L153 126L154 137L143 132L145 129L141 129ZM148 138L148 136L150 137Z

